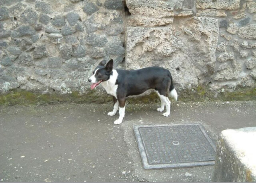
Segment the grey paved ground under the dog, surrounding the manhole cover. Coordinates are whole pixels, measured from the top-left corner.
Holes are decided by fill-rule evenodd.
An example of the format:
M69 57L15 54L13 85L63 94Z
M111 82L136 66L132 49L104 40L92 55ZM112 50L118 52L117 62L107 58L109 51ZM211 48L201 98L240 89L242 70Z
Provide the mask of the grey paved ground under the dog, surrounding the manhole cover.
M160 105L158 103L157 105ZM213 166L145 170L134 124L201 123L220 131L256 126L256 101L127 104L120 125L112 104L0 106L0 182L210 182Z

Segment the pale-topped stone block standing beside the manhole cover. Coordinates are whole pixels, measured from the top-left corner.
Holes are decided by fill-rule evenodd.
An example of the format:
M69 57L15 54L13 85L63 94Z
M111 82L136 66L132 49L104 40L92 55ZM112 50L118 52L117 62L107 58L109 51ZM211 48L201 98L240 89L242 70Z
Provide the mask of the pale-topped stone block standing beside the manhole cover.
M214 182L255 182L256 127L227 129L216 144Z

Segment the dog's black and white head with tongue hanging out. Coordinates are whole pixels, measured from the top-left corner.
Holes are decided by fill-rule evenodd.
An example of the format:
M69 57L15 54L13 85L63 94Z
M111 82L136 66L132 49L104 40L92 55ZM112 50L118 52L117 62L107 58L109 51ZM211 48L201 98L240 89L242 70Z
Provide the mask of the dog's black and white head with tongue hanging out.
M92 72L93 75L88 79L88 81L92 83L92 90L101 82L105 82L110 78L110 75L112 74L113 70L113 59L110 59L106 66L105 64L106 60L102 60L100 64Z

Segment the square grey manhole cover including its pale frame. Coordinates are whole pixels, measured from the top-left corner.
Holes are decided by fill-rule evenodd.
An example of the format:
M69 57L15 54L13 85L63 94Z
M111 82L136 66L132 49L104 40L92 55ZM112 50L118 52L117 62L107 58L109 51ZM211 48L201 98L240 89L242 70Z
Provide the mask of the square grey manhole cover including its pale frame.
M214 165L215 146L200 124L134 125L145 169Z

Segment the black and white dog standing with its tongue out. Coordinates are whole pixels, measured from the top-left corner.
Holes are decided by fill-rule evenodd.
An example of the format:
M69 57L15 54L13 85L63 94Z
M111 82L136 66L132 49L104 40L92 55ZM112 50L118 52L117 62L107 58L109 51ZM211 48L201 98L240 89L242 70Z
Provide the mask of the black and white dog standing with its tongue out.
M170 93L170 96L175 100L178 98L170 71L160 67L148 67L139 70L115 70L113 69L112 59L108 61L106 66L105 64L105 60L100 62L88 81L92 83L92 90L101 83L106 92L113 96L114 109L108 115L115 115L119 107L119 118L114 121L114 124L122 123L126 97L139 95L150 89L154 89L161 100L161 107L156 110L162 112L165 105L166 112L163 115L166 117L170 115L171 102L168 99L168 94Z

